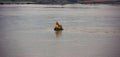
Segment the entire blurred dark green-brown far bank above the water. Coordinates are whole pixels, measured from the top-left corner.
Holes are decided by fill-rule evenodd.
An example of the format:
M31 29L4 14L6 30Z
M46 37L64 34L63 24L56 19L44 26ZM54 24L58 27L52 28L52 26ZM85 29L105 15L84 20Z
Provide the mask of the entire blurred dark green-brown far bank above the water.
M27 2L27 3L34 3L34 4L74 4L74 3L118 3L120 4L120 0L106 0L106 1L97 1L97 0L0 0L0 4L5 3L21 3L21 2Z

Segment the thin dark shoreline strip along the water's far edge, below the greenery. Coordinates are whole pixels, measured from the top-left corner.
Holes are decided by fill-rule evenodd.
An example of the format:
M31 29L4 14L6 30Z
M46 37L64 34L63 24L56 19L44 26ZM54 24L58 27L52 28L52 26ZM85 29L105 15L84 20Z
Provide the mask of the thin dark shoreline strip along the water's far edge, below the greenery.
M120 1L107 1L107 2L88 2L83 1L79 3L39 3L39 2L0 2L0 5L4 4L47 4L47 5L65 5L65 4L120 4Z

